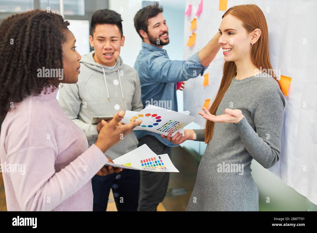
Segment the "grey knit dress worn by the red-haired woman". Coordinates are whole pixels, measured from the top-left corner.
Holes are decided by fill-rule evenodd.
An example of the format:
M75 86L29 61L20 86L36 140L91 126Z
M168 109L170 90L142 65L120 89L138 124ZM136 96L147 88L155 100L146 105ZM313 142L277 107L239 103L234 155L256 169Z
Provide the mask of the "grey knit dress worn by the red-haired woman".
M186 211L259 210L251 161L269 168L279 160L284 107L278 82L266 72L232 79L216 115L231 108L244 117L238 123L214 123ZM204 129L194 131L197 141L204 141Z

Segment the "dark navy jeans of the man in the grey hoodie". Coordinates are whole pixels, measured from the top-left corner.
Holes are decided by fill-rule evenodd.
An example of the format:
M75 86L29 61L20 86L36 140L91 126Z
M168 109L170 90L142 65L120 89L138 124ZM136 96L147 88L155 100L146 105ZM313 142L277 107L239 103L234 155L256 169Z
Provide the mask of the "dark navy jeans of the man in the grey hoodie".
M123 169L107 176L95 175L91 179L94 193L93 211L106 211L110 188L118 211L137 211L140 171Z

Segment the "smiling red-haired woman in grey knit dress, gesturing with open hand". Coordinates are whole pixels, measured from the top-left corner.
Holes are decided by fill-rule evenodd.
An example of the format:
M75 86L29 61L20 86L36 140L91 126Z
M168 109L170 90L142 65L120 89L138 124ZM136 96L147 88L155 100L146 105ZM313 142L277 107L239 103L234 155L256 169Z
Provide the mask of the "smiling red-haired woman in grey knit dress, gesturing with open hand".
M279 160L285 100L271 72L268 27L261 9L253 4L230 8L222 16L219 33L225 63L214 102L199 113L207 120L206 127L172 138L170 134L167 140L208 143L188 211L258 211L251 161L269 168Z

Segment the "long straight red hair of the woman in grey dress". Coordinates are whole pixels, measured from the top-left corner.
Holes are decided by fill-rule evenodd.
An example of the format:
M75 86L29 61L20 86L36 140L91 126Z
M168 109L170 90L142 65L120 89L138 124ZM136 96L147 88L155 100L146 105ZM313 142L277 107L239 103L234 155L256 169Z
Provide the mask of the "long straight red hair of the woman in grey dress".
M269 50L268 50L268 25L266 23L265 16L262 10L254 5L238 5L229 8L222 16L226 15L235 16L237 19L242 21L243 27L246 29L247 33L251 33L254 29L261 30L261 36L258 41L252 46L251 49L251 59L254 65L258 69L262 67L263 69L269 70L268 72L274 78L276 78L273 71ZM216 98L212 103L209 112L213 115L216 114L217 108L230 86L232 78L236 75L236 64L234 61L225 61L223 65L223 76L220 83L219 90L217 92ZM212 139L212 134L214 130L214 122L207 120L205 128L205 143L208 143Z

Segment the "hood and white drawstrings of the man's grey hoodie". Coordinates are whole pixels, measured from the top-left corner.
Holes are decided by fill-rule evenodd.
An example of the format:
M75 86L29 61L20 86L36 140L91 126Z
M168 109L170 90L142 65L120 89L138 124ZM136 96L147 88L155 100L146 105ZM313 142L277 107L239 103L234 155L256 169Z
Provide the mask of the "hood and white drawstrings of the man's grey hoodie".
M116 60L116 64L115 66L109 70L109 67L101 65L99 63L97 63L94 60L94 53L95 51L91 51L90 53L83 55L81 57L81 60L79 61L80 63L84 63L88 68L91 68L95 71L98 71L100 73L103 74L103 79L106 85L106 90L107 90L107 97L108 97L108 101L110 101L110 95L109 95L109 90L108 90L108 85L107 85L107 78L106 78L106 74L110 74L112 72L118 72L118 79L119 79L119 83L120 83L120 90L121 90L121 95L122 95L122 100L124 102L124 95L123 95L123 90L122 90L122 85L121 85L121 79L120 79L120 69L123 69L123 61L122 58L120 57L120 55L118 56L117 60Z

